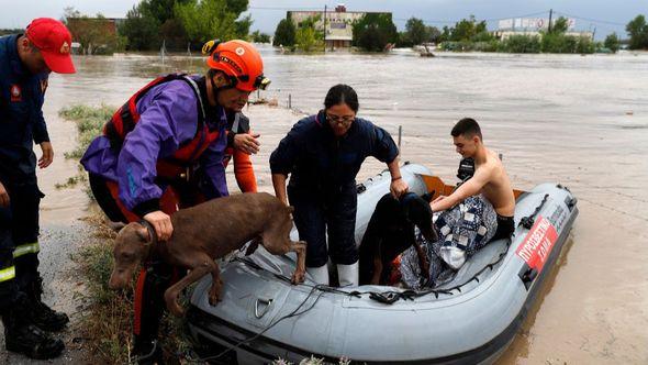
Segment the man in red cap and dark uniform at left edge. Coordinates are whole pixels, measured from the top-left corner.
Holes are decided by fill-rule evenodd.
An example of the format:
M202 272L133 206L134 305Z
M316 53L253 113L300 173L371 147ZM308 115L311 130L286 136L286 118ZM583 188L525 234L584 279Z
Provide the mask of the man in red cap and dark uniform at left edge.
M38 204L33 144L41 146L40 168L54 151L43 118L51 71L75 73L71 36L57 20L32 21L25 34L0 37L0 313L8 351L31 358L53 358L64 350L44 331L60 331L65 313L42 301L38 273Z

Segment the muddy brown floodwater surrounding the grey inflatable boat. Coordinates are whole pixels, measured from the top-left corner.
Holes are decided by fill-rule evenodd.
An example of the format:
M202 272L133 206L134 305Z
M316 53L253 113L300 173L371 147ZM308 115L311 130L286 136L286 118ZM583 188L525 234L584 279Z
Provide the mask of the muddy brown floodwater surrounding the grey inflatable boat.
M459 162L449 131L477 119L488 147L502 153L515 187L568 186L580 215L559 265L502 364L648 363L648 55L442 54L281 55L264 48L279 108L253 106L261 134L254 156L261 189L271 190L268 156L304 113L321 108L338 82L358 91L360 115L395 136L402 158L453 180ZM57 117L74 103L119 106L154 76L201 70L199 57L77 57L78 74L53 75L45 117L57 161L40 174L42 223L85 214L80 189L55 190L76 172L63 152L75 128ZM291 104L300 112L281 107ZM359 178L384 166L368 161ZM228 175L232 189L235 182Z

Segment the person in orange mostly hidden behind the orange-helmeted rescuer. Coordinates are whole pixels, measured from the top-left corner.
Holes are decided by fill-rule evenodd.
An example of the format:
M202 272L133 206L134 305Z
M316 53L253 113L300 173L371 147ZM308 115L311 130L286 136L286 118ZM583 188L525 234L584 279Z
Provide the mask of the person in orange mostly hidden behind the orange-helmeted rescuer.
M234 176L242 192L257 192L257 178L252 166L250 155L259 152L260 134L253 134L249 119L243 113L227 115L227 150L223 163L225 168L234 161Z

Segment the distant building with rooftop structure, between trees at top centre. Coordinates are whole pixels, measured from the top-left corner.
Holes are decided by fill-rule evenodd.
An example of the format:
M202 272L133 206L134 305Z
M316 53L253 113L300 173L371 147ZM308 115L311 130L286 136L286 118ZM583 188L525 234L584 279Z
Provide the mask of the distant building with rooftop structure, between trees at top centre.
M325 41L326 49L349 48L354 40L354 22L360 20L367 11L347 11L344 4L338 4L335 9L326 12L326 30ZM389 14L388 12L377 12L381 14ZM324 31L324 10L322 11L289 11L288 19L291 19L295 26L309 18L320 16L315 22L317 31Z

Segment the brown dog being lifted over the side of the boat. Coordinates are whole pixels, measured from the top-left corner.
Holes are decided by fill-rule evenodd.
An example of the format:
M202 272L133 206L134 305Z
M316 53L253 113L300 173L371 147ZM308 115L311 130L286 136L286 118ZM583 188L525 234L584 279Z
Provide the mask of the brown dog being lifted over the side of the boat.
M191 270L165 291L165 301L171 313L182 316L183 310L178 303L180 291L208 273L212 274L209 298L214 306L220 300L223 286L214 259L241 248L250 240L254 242L248 254L259 243L275 255L295 252L298 259L292 283L302 283L306 244L289 239L292 211L292 207L284 206L267 192L248 192L213 199L176 212L171 215L174 234L167 242L157 242L155 231L148 225L129 223L115 239L114 267L109 287L125 287L141 262L159 257L170 265Z

